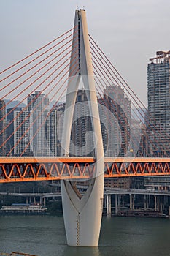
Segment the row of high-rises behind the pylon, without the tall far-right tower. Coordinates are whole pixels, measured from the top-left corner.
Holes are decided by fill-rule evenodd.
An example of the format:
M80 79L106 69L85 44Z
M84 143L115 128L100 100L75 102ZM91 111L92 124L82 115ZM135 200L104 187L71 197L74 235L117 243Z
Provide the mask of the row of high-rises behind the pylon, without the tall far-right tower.
M85 89L79 89L72 123L71 155L93 155L95 146L87 100ZM65 103L55 102L50 108L47 94L42 94L41 91L28 94L27 103L28 105L23 108L14 106L2 108L0 111L5 117L2 135L7 138L1 148L4 148L4 153L1 152L0 155L60 156ZM98 109L104 155L106 157L143 155L139 143L140 126L144 123L132 116L131 100L125 97L124 90L116 85L107 86L103 97L98 97ZM7 115L5 115L6 110ZM147 151L147 148L144 150Z

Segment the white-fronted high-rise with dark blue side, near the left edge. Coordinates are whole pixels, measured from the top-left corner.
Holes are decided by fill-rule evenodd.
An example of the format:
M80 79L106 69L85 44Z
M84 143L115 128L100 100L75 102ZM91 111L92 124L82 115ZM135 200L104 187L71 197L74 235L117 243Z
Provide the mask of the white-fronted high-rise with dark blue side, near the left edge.
M23 108L7 109L7 123L9 124L7 153L12 156L31 154L28 110Z

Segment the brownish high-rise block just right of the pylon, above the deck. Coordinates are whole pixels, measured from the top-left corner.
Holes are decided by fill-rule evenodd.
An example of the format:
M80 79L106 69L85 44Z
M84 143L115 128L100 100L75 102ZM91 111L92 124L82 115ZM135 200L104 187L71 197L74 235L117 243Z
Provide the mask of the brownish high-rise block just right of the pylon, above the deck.
M99 99L98 103L104 105L104 109L100 110L100 116L106 128L102 132L104 144L107 141L105 156L129 155L131 101L125 97L124 90L120 86L113 85L104 89L104 97Z

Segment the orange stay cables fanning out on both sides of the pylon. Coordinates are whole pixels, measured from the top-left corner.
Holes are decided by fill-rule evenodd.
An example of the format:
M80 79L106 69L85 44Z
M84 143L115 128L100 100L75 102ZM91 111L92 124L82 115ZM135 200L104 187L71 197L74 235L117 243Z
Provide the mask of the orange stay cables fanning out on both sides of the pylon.
M89 40L98 105L104 107L103 114L107 120L107 126L115 132L117 141L122 140L122 143L119 141L120 148L116 148L119 151L116 156L118 154L120 157L131 156L129 151L133 152L136 148L133 154L146 157L147 152L140 147L139 134L134 128L138 126L136 129L140 135L144 135L150 147L156 149L157 142L150 139L148 135L148 128L155 120L152 120L152 116L147 113L139 97L132 91L94 39L89 36ZM74 27L66 31L34 53L4 69L0 75L2 76L0 80L1 102L5 100L5 104L0 105L0 113L3 113L0 114L0 154L5 148L5 154L8 157L18 154L24 156L31 151L30 148L36 146L35 141L42 134L42 130L44 134L47 133L50 115L58 108L60 102L65 100L66 89L70 83L68 78L80 75L78 28ZM113 90L109 91L110 88ZM113 95L115 88L120 89L120 92L123 91L124 102L120 102L120 99ZM118 122L120 132L117 132L115 128L114 118ZM163 131L156 132L162 132L160 136L164 136L163 140L166 143L169 142L169 136L166 136ZM108 142L109 136L109 134L106 135L104 140ZM39 143L38 140L37 143ZM20 147L18 153L17 148L21 144L23 146ZM160 145L162 150L163 147ZM44 151L43 154L50 154L50 149L48 153Z

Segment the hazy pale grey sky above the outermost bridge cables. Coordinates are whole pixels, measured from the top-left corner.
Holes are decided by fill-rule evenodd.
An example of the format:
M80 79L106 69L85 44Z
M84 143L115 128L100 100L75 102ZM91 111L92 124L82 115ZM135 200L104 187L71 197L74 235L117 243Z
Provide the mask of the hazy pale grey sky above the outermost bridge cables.
M0 69L71 29L77 6L85 6L89 33L146 105L147 63L170 50L169 0L0 0Z

